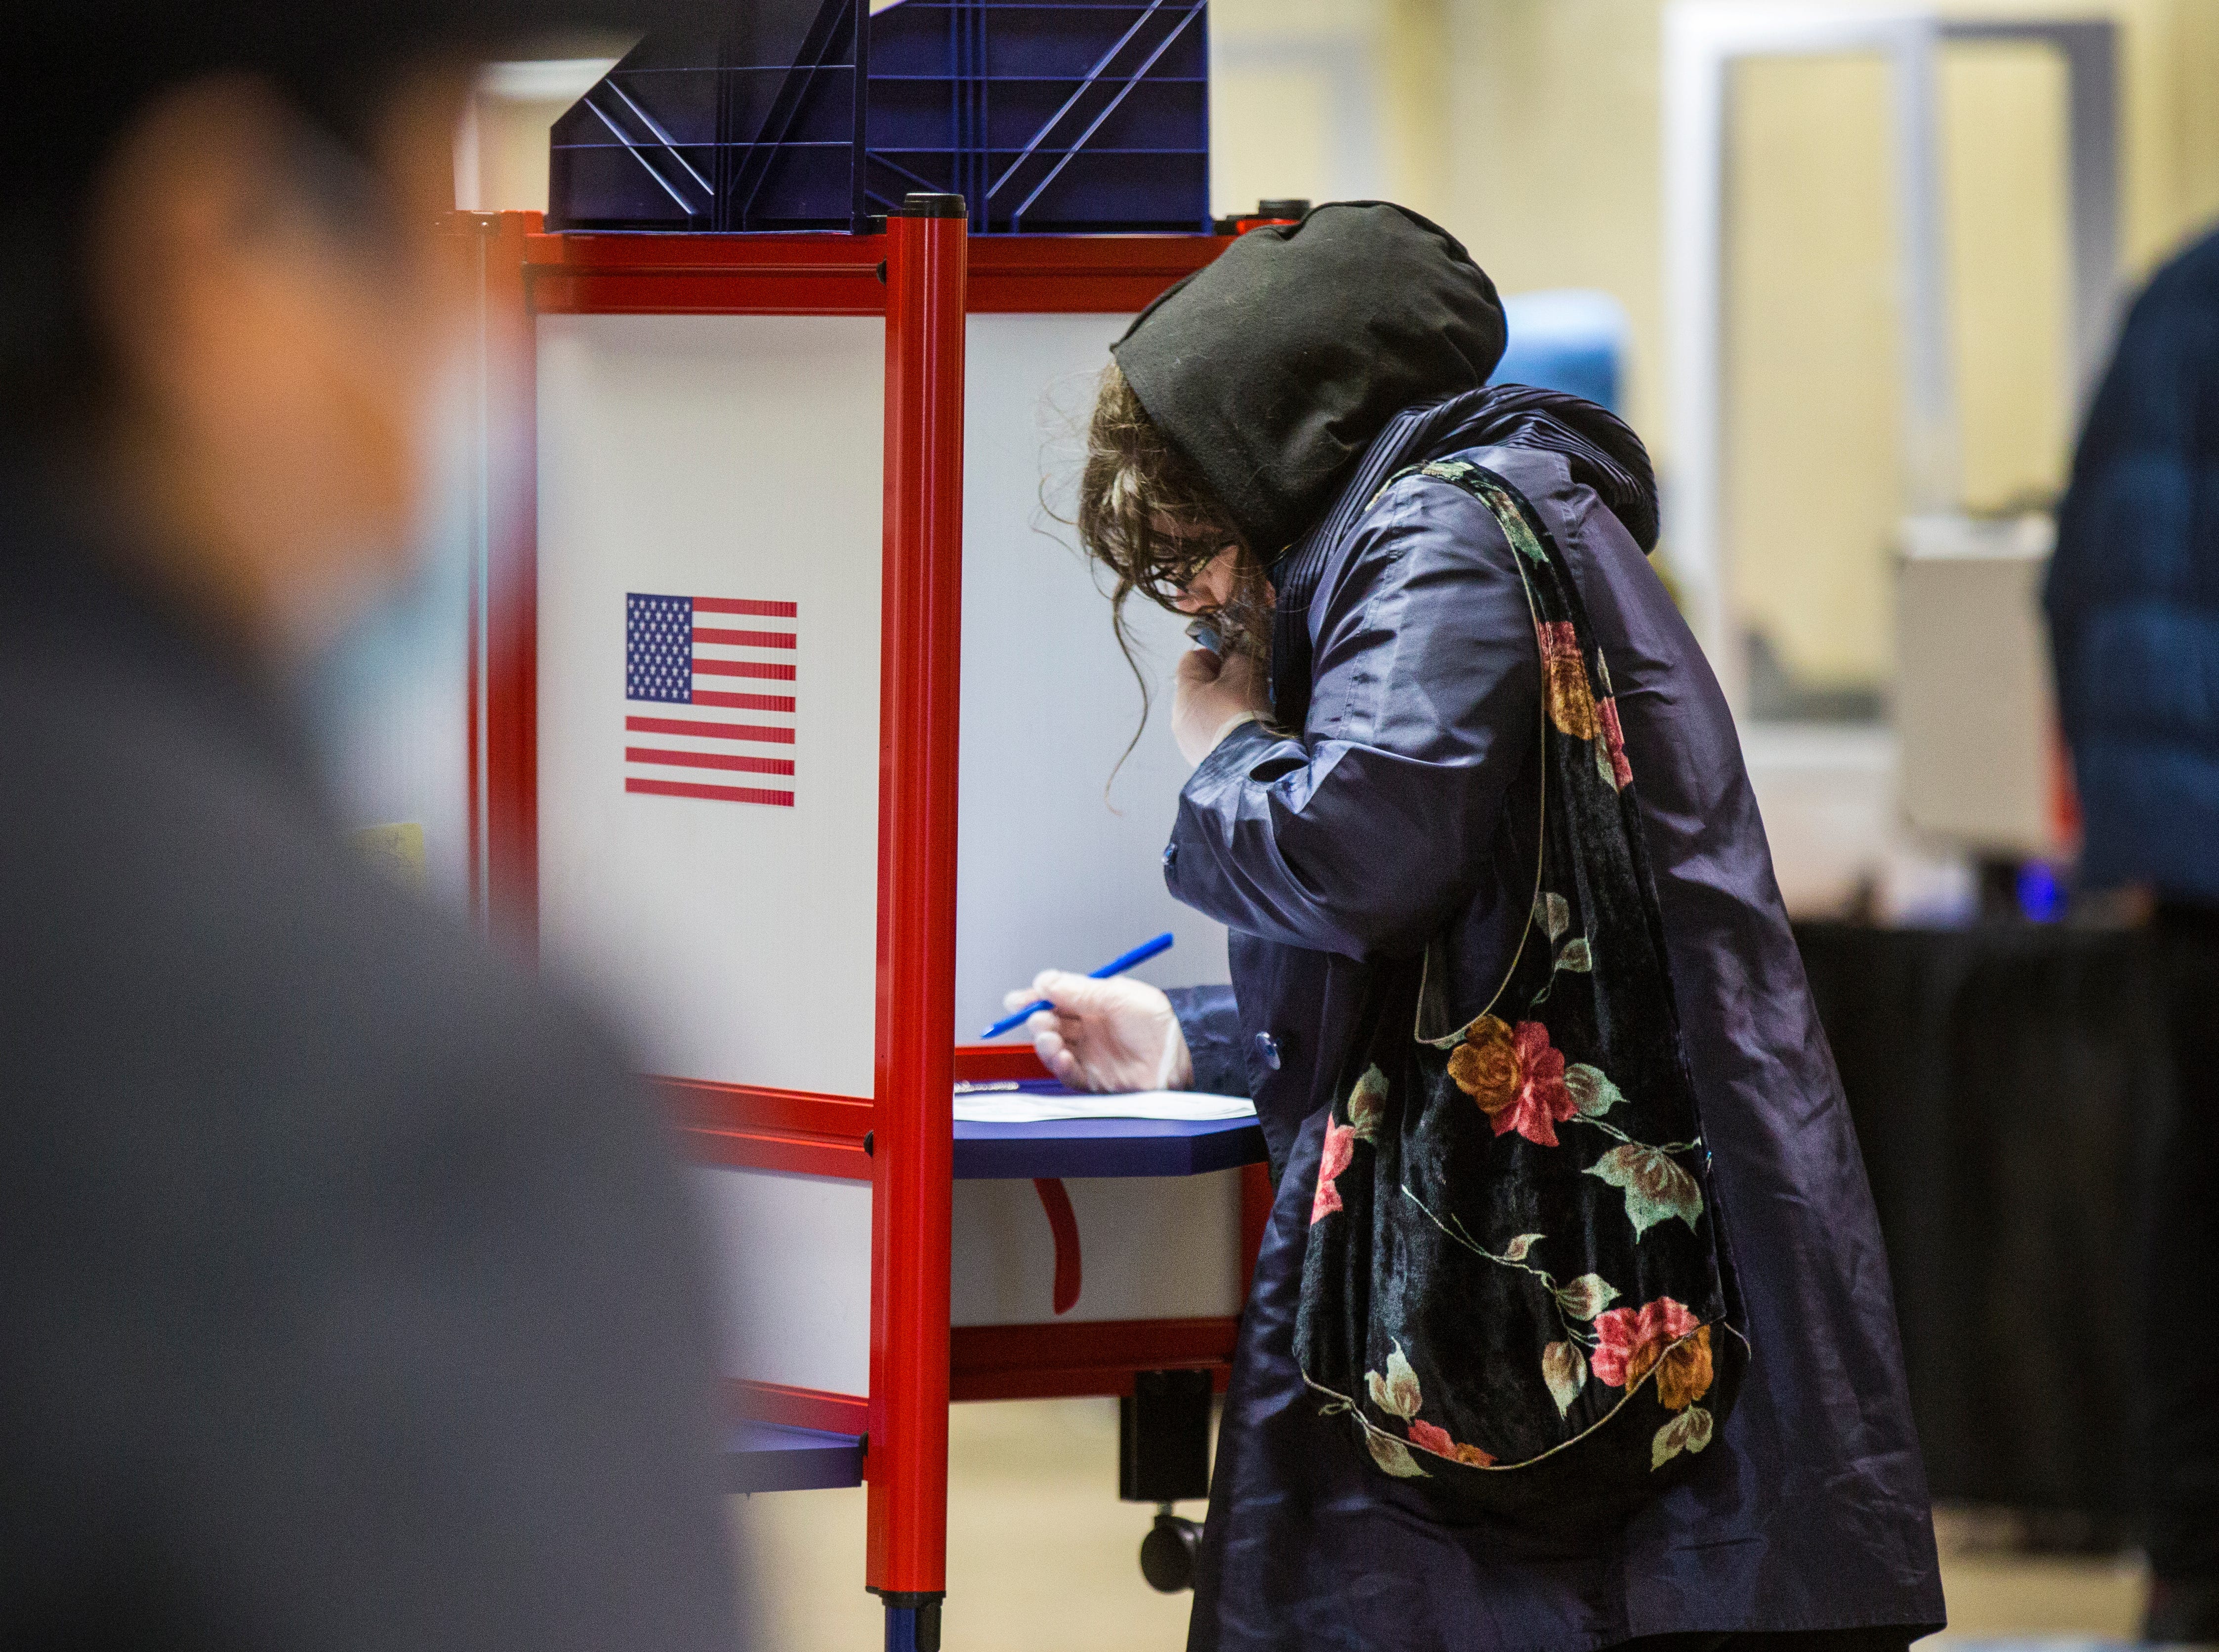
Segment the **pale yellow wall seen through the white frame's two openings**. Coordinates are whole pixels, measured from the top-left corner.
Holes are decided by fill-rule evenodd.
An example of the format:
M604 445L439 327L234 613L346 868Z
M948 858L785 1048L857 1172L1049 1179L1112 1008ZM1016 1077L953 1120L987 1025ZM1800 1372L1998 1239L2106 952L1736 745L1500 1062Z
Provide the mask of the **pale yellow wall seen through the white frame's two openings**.
M1802 679L1884 681L1906 344L1891 75L1877 58L1773 58L1731 84L1735 608ZM1959 503L2048 503L2073 443L2064 60L1957 44L1939 91Z

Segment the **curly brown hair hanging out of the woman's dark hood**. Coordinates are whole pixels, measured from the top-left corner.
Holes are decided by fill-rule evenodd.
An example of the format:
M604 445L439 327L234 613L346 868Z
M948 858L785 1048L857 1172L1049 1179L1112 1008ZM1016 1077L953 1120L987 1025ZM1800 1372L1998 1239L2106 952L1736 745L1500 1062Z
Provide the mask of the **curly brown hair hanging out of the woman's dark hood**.
M1234 550L1232 596L1203 619L1218 632L1225 652L1269 661L1271 581L1263 563L1200 472L1147 417L1116 361L1103 370L1094 395L1074 528L1078 545L1116 581L1110 614L1127 663L1134 663L1132 632L1125 628L1127 599L1138 594L1178 612L1187 585L1227 548ZM1134 676L1141 676L1136 663ZM1141 694L1147 696L1145 676Z

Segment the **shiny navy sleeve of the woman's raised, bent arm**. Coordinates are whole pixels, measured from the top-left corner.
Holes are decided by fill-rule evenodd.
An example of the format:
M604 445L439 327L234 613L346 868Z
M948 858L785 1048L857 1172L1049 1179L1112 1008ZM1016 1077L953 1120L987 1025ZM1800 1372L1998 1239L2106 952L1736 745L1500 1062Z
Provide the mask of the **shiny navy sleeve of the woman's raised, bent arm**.
M1311 601L1307 725L1227 734L1178 798L1172 894L1265 940L1409 956L1473 894L1538 734L1540 659L1487 508L1409 477Z

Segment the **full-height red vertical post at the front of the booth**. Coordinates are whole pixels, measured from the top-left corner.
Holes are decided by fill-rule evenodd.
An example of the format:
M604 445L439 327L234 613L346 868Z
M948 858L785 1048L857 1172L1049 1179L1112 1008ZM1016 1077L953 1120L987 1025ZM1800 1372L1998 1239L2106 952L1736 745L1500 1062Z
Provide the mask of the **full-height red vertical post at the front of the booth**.
M888 1645L939 1645L948 1588L948 1209L954 1175L956 690L963 632L961 195L885 224L879 645L879 1044L870 1557Z

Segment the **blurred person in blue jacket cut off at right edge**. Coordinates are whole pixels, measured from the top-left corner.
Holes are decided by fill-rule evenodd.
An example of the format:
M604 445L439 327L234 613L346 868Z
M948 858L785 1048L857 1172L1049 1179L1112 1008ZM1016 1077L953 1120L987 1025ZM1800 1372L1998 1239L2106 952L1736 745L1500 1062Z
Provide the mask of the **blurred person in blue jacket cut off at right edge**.
M2088 887L2152 898L2175 1107L2148 1204L2152 1641L2219 1641L2219 235L2128 315L2057 512L2048 612ZM2192 1282L2192 1284L2190 1284ZM2183 1291L2192 1295L2183 1295Z

